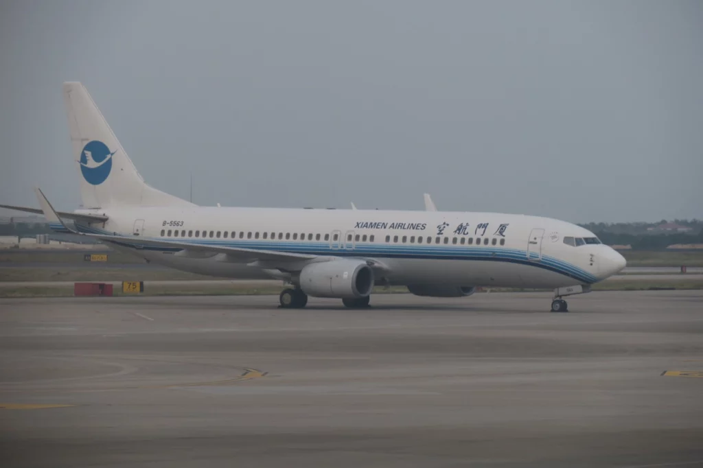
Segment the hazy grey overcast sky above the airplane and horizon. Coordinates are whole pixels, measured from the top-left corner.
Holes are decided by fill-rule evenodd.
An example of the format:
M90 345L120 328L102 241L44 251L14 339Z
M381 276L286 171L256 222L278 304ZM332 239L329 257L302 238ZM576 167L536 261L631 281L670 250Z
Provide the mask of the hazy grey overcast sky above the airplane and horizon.
M703 218L699 1L4 1L0 200L79 204L61 83L233 206Z

